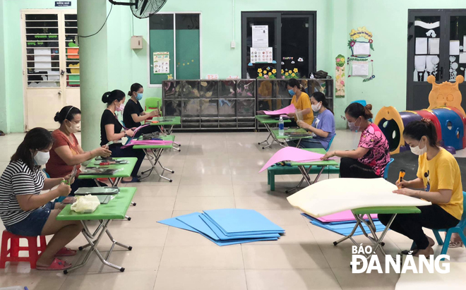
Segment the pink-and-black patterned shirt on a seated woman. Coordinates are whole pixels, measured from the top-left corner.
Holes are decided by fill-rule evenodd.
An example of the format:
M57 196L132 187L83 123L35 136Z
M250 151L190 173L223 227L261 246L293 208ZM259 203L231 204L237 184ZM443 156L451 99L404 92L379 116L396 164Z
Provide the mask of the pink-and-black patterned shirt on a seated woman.
M385 167L390 162L390 147L388 147L385 135L376 124L371 123L362 132L358 147L369 149L369 151L357 161L371 167L375 174L383 177Z

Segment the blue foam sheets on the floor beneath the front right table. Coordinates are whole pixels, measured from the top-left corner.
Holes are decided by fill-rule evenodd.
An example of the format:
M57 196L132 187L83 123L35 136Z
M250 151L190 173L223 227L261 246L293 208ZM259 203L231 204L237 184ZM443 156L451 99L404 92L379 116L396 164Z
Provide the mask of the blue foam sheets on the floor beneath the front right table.
M321 227L322 229L326 229L328 231L333 231L336 234L340 234L342 236L347 236L351 234L352 230L354 229L354 226L356 226L356 220L342 220L342 221L335 221L333 222L322 222L319 219L316 219L315 217L311 217L310 215L306 215L302 213L301 215L304 215L307 219L311 221L311 224L314 226ZM378 221L378 219L373 219L374 220L374 225L376 226L376 231L383 231L385 229L385 226ZM365 224L363 224L364 230L366 231L367 234L371 233L369 230L369 227L367 227ZM362 235L362 229L360 227L357 228L357 230L354 232L353 236L359 236Z

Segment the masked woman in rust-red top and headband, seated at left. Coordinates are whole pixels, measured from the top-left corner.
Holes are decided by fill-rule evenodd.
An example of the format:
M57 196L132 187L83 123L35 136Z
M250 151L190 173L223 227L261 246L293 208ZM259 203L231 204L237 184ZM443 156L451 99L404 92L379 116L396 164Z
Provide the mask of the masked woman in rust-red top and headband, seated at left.
M60 123L60 128L52 132L54 145L50 150L50 159L45 166L47 174L51 178L64 177L71 174L73 167L78 167L80 173L80 164L97 156L109 157L112 152L108 146L84 152L80 147L78 139L74 133L80 129L81 111L73 106L66 106L57 112L54 120ZM80 187L95 187L97 184L92 179L76 179L71 185L71 195ZM104 183L101 186L105 186Z

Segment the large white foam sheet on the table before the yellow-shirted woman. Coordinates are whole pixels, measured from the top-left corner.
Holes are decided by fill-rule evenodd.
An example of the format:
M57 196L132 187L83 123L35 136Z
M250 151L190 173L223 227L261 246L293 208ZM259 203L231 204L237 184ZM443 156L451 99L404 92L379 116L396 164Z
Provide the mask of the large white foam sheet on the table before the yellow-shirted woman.
M290 195L287 200L312 217L360 207L431 205L425 200L393 193L395 189L395 184L385 179L327 179Z

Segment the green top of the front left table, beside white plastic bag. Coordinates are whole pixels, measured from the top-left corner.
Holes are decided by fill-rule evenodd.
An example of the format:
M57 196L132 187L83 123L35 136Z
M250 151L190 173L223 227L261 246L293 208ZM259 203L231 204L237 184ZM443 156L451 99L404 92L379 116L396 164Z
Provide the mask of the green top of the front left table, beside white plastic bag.
M126 210L128 210L131 200L136 193L136 187L121 187L120 193L110 200L107 205L99 205L95 212L91 214L80 214L71 210L71 205L61 210L56 220L59 221L78 221L78 220L95 220L95 219L124 219Z

